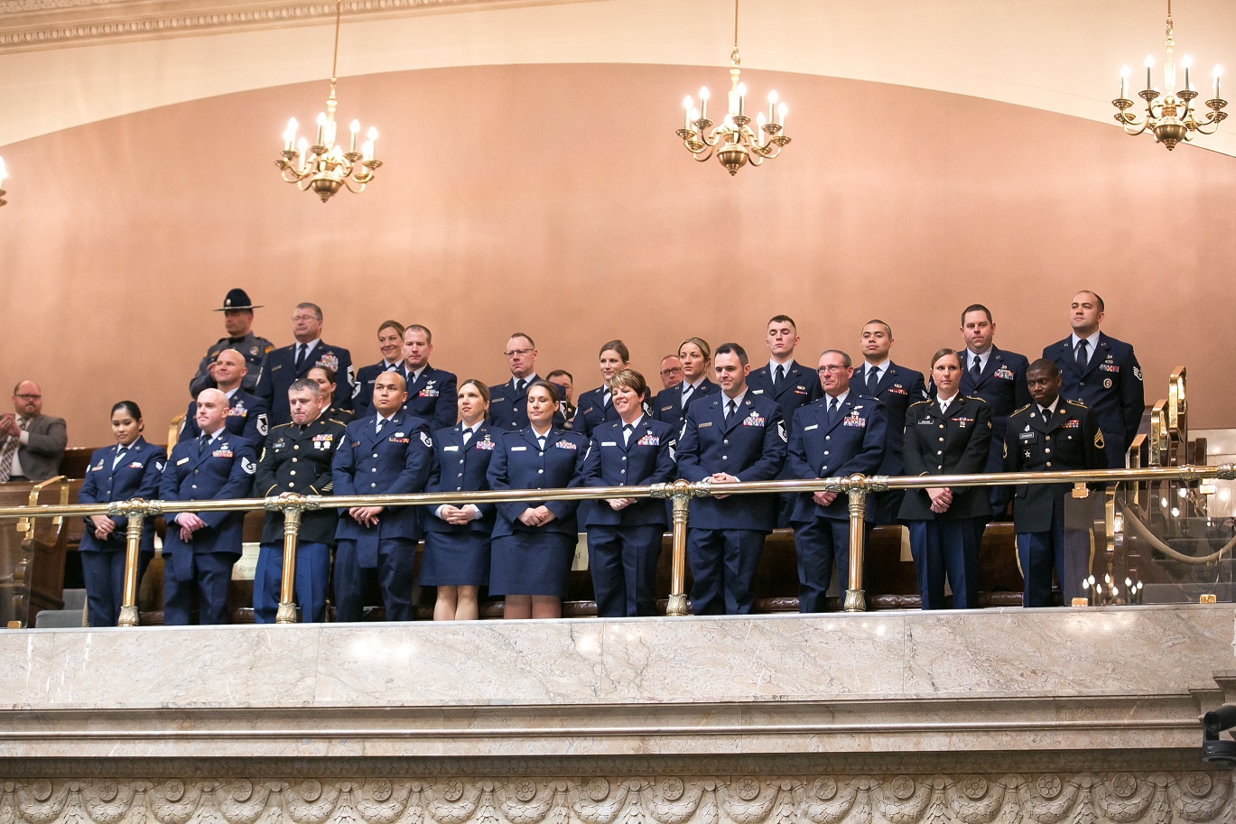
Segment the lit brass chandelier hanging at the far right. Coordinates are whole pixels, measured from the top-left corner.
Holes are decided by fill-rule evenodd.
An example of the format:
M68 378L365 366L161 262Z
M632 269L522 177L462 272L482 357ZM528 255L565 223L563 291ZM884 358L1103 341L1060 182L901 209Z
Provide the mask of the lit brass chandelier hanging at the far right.
M1222 67L1216 65L1211 74L1211 96L1206 100L1210 111L1200 119L1194 110L1193 101L1198 91L1189 80L1189 68L1193 65L1192 58L1187 54L1180 61L1184 69L1183 88L1175 89L1175 61L1172 52L1175 41L1172 38L1172 0L1167 0L1167 58L1163 61L1163 91L1154 86L1154 57L1146 56L1146 88L1137 93L1137 96L1146 101L1146 114L1141 120L1128 111L1133 101L1128 99L1128 67L1120 72L1120 96L1111 101L1119 111L1119 122L1127 135L1141 135L1149 131L1154 140L1167 146L1168 151L1175 148L1180 141L1193 140L1193 133L1213 135L1219 124L1227 117L1222 111L1227 101L1219 96L1219 79L1222 77ZM1159 100L1162 98L1162 100Z

